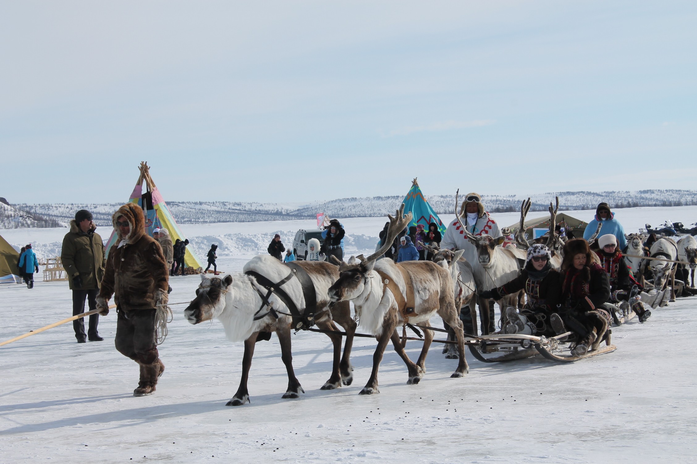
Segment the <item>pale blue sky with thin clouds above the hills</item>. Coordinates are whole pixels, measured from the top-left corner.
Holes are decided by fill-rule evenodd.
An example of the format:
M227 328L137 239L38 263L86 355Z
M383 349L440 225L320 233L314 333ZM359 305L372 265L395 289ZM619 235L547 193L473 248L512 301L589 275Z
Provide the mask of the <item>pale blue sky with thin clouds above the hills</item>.
M697 2L0 1L0 196L697 189Z

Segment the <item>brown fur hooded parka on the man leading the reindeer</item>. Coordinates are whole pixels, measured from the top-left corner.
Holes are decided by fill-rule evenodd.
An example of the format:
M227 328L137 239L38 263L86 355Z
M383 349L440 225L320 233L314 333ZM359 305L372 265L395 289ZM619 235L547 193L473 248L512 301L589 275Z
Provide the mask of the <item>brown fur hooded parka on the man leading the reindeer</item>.
M126 237L116 227L116 219L123 216L130 224ZM167 303L169 267L162 247L145 233L143 210L134 203L126 203L112 216L116 243L109 250L107 266L100 288L100 298L114 303L124 311L148 310Z

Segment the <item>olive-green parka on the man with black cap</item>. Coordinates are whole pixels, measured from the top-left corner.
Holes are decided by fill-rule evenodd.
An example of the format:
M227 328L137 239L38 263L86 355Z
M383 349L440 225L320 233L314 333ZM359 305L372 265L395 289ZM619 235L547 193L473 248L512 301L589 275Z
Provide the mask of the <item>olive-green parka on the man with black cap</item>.
M61 262L68 273L71 290L75 290L72 285L75 275L82 278L80 289L99 289L104 277L104 252L104 244L99 234L94 230L84 233L75 220L70 221L70 232L63 237Z

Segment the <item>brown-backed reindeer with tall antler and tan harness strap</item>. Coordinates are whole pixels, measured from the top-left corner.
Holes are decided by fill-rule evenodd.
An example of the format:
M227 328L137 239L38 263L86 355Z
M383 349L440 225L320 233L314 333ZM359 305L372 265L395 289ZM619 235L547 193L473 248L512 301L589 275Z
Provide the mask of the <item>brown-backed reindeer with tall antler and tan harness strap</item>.
M404 216L404 204L394 218L388 216L390 225L384 245L367 258L358 256L358 264L342 262L339 279L328 292L332 302L353 301L356 313L360 315L360 326L378 340L372 374L360 394L379 392L378 367L390 339L395 351L406 363L409 373L407 383L419 383L426 371L426 355L433 333L431 330L424 331L424 346L414 363L399 341L397 325L422 323L429 326L429 319L436 312L455 328L457 335L459 363L451 377L462 377L468 372L462 322L455 307L452 278L445 266L430 261L395 264L392 259L378 259L392 246L399 231L411 222L411 217L411 212Z

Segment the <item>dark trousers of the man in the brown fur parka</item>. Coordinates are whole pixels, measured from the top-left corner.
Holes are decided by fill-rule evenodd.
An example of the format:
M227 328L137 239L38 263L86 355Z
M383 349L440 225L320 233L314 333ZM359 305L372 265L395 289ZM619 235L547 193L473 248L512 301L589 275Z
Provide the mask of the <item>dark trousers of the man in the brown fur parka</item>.
M116 349L122 355L144 365L158 359L155 344L155 310L116 310Z

